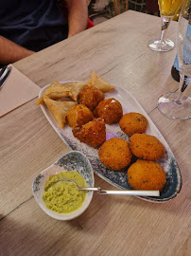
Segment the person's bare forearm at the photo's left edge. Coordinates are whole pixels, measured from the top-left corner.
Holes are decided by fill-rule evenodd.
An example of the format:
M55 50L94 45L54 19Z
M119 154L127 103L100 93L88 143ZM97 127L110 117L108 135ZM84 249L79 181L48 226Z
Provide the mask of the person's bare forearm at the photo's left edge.
M0 36L0 64L12 64L33 54L22 46L18 46L9 39Z

